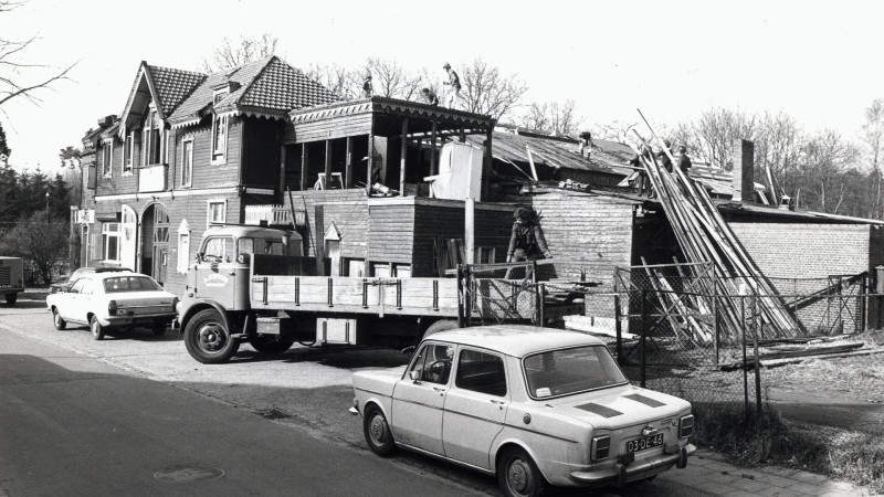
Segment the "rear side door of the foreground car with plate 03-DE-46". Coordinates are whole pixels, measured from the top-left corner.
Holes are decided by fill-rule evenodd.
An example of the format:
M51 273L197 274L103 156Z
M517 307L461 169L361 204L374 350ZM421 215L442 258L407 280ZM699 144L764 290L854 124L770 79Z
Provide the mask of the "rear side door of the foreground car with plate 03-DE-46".
M504 427L508 405L503 358L483 350L461 349L442 417L445 456L493 469L491 445Z

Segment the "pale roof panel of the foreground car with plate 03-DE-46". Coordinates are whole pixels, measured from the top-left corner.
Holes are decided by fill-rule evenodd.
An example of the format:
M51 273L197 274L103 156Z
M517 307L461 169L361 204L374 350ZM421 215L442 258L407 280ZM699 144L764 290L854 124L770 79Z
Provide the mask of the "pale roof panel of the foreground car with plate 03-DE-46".
M578 331L522 325L456 328L433 334L428 340L480 347L517 358L565 347L604 345L598 338Z

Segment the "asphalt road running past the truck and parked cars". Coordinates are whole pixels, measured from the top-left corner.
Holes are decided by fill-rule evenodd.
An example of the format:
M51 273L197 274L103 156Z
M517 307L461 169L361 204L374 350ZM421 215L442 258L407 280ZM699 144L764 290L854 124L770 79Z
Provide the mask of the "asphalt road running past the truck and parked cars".
M175 331L94 341L85 327L55 330L42 302L0 306L0 497L499 495L495 478L368 451L361 420L347 413L351 374L406 360L389 350L266 358L243 346L207 366ZM223 476L155 477L210 478L213 468ZM596 495L711 495L678 478Z

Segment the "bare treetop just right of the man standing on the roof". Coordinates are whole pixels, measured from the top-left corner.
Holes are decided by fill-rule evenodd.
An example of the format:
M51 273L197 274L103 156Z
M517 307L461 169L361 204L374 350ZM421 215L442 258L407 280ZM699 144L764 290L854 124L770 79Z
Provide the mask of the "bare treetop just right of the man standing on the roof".
M464 66L460 77L465 110L487 114L496 120L518 107L528 91L527 84L516 74L502 74L501 70L482 59Z

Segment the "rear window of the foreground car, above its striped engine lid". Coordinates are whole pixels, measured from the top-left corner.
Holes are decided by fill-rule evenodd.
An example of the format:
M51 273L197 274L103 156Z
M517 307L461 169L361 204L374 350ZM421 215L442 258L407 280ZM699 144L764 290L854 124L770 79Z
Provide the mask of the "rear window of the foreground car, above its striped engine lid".
M535 353L522 361L528 393L536 399L568 395L627 382L603 346Z

